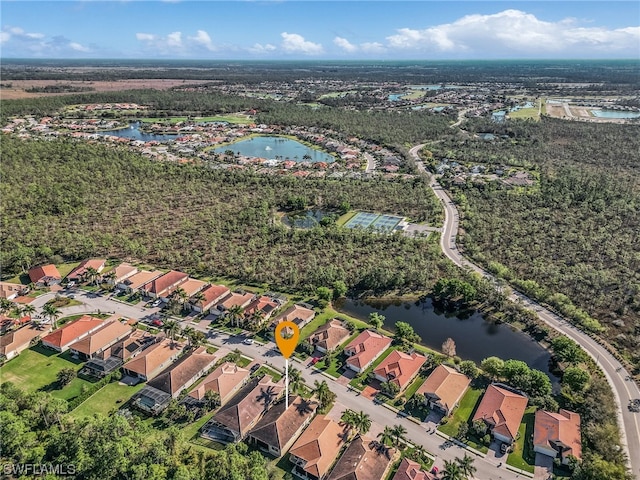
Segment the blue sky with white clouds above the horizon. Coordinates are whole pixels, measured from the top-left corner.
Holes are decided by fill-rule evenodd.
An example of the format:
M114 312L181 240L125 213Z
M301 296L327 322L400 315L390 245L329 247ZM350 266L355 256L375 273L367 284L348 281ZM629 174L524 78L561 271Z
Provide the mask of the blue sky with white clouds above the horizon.
M637 1L2 0L3 58L640 58Z

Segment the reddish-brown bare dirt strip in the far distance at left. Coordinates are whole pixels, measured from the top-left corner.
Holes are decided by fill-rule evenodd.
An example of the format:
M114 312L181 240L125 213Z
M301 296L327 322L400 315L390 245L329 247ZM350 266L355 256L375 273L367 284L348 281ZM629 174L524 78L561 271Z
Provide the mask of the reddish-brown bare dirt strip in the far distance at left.
M180 80L180 79L131 79L116 80L108 82L83 82L73 80L11 80L7 82L11 87L0 88L0 98L3 100L19 98L48 97L51 95L73 95L76 93L92 92L116 92L119 90L141 90L151 88L154 90L168 90L180 85L199 85L205 83L203 80ZM35 93L26 90L33 87L47 87L56 85L69 85L78 89L91 88L86 92L63 92L63 93Z

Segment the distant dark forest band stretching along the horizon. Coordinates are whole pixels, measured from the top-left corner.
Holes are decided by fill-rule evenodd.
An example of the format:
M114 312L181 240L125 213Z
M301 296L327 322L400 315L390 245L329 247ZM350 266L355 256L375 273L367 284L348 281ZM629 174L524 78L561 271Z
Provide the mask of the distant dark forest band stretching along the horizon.
M498 60L498 61L242 61L215 60L61 60L3 59L3 80L118 80L180 78L226 83L292 82L300 79L347 82L536 82L638 85L633 60ZM575 89L575 86L572 88ZM619 91L619 90L618 90Z

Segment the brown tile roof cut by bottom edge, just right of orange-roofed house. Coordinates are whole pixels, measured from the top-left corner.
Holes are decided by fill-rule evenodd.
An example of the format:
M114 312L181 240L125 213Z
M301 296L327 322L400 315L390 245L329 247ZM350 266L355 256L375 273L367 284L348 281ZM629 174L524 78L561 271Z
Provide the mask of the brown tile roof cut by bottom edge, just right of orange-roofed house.
M391 465L395 449L381 449L378 442L357 436L344 451L328 480L382 479Z

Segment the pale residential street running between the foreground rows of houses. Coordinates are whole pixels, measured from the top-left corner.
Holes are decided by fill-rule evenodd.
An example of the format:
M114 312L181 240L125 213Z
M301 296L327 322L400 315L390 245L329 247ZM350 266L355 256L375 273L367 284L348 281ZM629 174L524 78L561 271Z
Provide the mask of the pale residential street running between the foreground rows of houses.
M64 295L64 292L61 292ZM40 312L41 307L51 298L54 294L46 294L38 297L32 305L35 306ZM119 315L127 316L135 319L143 319L156 313L157 308L140 308L116 302L109 299L108 296L101 296L95 294L86 294L81 291L74 292L76 300L81 301L81 305L74 305L71 307L64 307L60 310L64 315L74 315L80 313L97 312L100 310L103 313L117 312ZM207 334L212 334L209 338L209 343L217 347L225 347L228 349L239 349L247 357L253 358L260 363L267 363L276 369L284 371L284 358L276 351L276 345L273 342L269 342L265 345L253 344L245 345L242 343L243 336L230 336L224 333L211 332L208 328L209 322L203 321L200 323L186 323L183 322L182 326L189 326L200 330ZM344 408L350 408L357 411L364 411L371 417L372 422L377 424L377 430L381 431L385 425L403 425L407 429L407 439L414 444L421 444L425 449L432 453L435 457L435 465L439 468L443 468L445 460L453 460L454 458L461 458L466 453L461 447L445 443L446 441L439 437L437 434L427 433L427 424L418 425L408 419L398 416L395 412L383 407L382 405L376 405L372 400L363 397L356 391L350 390L347 386L341 385L330 377L322 375L318 370L307 367L306 364L292 362L293 366L298 368L302 372L305 383L312 386L315 380L326 380L331 390L336 394L336 402L344 406ZM338 412L339 413L339 412ZM372 428L374 431L374 428ZM444 448L446 446L446 448ZM518 478L527 478L521 474L509 471L505 465L498 467L499 460L495 458L482 458L474 455L477 468L476 478L482 480L512 480ZM504 460L504 459L502 459Z

